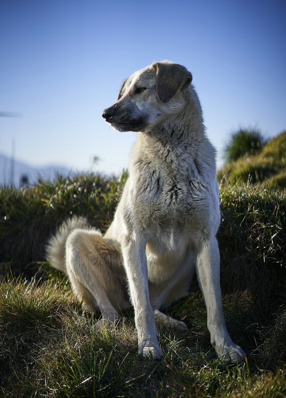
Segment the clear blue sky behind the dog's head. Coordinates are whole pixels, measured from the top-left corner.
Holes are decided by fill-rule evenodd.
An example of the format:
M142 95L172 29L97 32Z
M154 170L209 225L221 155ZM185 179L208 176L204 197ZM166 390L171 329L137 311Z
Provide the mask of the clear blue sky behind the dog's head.
M119 174L135 133L101 117L155 60L193 74L218 149L237 127L286 129L286 1L0 1L0 153Z

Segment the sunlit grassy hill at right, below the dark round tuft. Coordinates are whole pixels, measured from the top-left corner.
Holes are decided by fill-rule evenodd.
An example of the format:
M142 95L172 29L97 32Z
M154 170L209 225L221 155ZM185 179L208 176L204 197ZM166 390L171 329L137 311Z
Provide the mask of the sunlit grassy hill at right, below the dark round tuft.
M269 140L255 155L245 155L218 171L218 181L259 182L286 187L286 131Z

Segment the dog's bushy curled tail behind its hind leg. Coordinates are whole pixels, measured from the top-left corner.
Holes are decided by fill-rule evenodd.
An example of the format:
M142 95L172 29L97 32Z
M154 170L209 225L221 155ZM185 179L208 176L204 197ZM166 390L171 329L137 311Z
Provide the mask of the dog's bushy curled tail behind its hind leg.
M46 246L46 258L50 265L62 272L65 271L66 239L75 228L89 228L89 222L85 217L72 217L65 220L56 233L49 239Z

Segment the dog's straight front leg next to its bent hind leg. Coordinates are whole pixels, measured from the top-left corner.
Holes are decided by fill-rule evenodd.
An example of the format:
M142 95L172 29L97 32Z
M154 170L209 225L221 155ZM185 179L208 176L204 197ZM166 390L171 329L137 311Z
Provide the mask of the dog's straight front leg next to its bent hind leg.
M149 299L145 246L142 242L131 239L124 245L122 254L130 298L134 306L139 353L142 353L144 357L160 359L163 353L158 343L154 310Z

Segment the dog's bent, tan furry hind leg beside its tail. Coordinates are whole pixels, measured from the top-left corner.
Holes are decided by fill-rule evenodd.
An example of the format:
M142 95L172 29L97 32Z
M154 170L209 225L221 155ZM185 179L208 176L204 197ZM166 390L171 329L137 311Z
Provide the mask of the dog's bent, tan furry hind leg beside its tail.
M130 306L121 256L110 240L94 228L76 229L66 240L66 272L84 307L100 310L103 322L115 322Z

